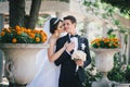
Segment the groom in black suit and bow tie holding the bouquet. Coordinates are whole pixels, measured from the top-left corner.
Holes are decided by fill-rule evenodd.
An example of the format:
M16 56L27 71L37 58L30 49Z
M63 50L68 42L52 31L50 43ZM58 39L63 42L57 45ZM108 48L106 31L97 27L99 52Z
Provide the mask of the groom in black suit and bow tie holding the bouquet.
M91 63L88 40L79 35L76 35L76 18L72 15L64 17L64 27L67 35L61 37L56 42L56 51L60 50L66 41L68 42L66 50L57 60L55 60L55 64L61 65L58 87L82 87L82 83L86 78L83 69ZM72 60L72 54L75 50L84 51L87 60ZM79 69L76 72L77 65Z

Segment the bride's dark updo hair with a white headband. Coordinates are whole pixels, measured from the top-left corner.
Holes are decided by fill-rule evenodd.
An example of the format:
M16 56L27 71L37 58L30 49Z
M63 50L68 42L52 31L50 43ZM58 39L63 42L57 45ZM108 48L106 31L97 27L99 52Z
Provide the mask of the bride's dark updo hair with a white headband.
M58 23L62 22L62 20L57 17L53 17L50 20L50 33L54 34L54 32L57 29Z

